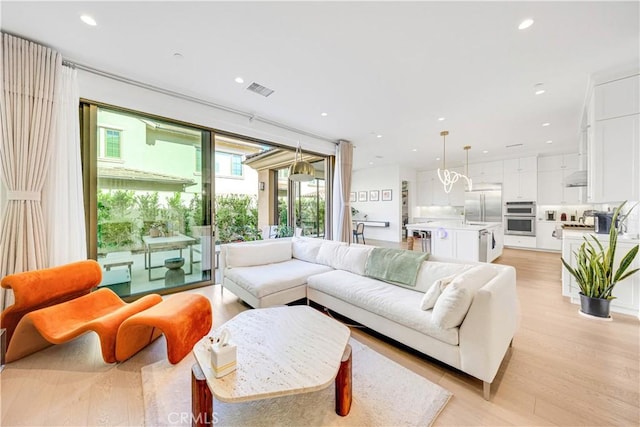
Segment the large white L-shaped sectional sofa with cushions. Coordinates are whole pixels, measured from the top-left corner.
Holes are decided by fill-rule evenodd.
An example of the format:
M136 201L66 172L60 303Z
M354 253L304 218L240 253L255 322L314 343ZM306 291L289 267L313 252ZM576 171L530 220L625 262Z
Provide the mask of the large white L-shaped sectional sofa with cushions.
M398 285L369 277L373 250L296 237L223 245L222 285L256 308L306 297L482 380L489 399L517 329L515 269L431 257L415 285Z

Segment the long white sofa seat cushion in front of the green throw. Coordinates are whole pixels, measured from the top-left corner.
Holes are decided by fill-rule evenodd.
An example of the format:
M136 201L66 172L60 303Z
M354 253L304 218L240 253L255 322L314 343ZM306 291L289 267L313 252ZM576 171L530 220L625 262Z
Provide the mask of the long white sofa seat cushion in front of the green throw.
M310 276L307 286L447 344L458 345L458 329L438 328L431 321L432 312L420 310L421 292L344 270Z

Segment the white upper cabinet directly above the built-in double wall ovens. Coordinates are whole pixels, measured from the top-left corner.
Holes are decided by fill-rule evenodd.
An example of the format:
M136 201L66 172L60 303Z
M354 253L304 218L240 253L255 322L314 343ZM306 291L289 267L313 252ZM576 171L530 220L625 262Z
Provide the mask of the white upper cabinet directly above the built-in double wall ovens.
M538 198L538 160L535 156L504 161L502 199L536 201Z

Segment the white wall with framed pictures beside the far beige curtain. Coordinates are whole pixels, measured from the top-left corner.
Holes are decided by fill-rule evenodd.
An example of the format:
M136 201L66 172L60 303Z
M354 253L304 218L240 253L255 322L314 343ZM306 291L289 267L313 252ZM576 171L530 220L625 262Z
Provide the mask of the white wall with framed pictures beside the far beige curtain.
M365 227L365 239L399 242L402 234L401 184L400 166L381 166L353 171L351 191L380 191L377 202L352 202L351 206L360 211L356 219L368 215L368 221L389 221L388 228ZM391 201L382 201L382 190L391 190ZM368 200L368 198L367 198Z

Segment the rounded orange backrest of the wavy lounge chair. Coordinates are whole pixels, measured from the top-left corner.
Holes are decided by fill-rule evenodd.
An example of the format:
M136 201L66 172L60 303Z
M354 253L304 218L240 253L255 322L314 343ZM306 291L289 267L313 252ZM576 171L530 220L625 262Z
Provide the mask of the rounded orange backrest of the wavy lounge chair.
M0 317L0 325L7 330L7 346L25 314L87 295L101 280L102 269L93 260L4 277L1 286L12 289L15 298Z

